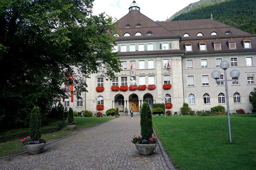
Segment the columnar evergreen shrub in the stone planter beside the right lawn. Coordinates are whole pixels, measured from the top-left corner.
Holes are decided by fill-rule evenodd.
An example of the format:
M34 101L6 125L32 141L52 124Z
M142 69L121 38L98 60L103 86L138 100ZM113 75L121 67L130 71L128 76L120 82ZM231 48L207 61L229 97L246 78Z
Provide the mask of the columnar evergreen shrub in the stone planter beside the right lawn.
M143 139L149 139L153 134L152 126L152 114L147 102L142 104L141 114L140 114L140 127L141 127L141 136Z

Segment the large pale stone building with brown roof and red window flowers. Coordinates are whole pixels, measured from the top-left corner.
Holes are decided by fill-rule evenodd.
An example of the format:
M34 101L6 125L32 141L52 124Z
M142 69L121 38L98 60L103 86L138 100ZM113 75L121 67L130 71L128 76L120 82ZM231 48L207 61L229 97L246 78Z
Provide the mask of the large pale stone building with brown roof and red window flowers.
M119 52L122 71L112 81L100 73L91 75L86 80L88 92L73 102L65 99L66 107L95 113L96 104L104 104L99 112L119 107L121 114L125 107L139 112L142 102L150 106L172 103L173 113L180 113L183 102L193 111L209 111L219 105L226 108L225 83L216 82L211 73L217 69L224 79L219 64L228 61L228 79L232 79L229 73L233 69L240 72L238 79L228 82L230 113L240 108L253 111L249 95L256 87L256 35L214 19L154 22L140 13L135 1L118 23L120 34L114 35L114 51ZM171 88L164 89L168 84ZM104 91L97 92L97 86Z

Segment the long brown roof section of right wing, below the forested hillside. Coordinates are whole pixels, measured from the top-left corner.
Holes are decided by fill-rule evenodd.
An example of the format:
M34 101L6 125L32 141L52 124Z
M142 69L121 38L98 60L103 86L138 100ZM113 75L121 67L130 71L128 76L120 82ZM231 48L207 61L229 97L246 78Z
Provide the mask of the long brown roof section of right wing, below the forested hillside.
M227 24L215 21L214 19L195 19L186 21L167 21L159 22L161 26L168 29L170 32L181 37L184 34L189 34L189 37L183 39L204 39L204 38L219 38L219 37L237 37L237 36L252 36L248 32L228 26ZM211 33L216 32L217 35L211 36ZM230 32L231 34L225 34ZM203 36L197 36L202 33Z

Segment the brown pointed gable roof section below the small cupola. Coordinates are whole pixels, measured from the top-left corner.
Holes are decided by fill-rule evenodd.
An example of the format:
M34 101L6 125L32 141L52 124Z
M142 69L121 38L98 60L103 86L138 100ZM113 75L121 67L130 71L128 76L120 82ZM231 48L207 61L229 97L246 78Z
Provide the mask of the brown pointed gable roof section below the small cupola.
M129 24L130 28L125 28ZM141 27L136 27L137 24L141 24ZM171 33L167 29L160 26L158 23L152 21L152 19L144 16L140 11L129 11L124 17L119 19L118 26L120 30L117 41L122 40L134 40L134 39L157 39L157 38L180 38L180 36ZM135 33L140 32L141 36L135 36ZM147 32L152 32L152 35L146 36ZM124 37L125 33L129 33L130 37Z

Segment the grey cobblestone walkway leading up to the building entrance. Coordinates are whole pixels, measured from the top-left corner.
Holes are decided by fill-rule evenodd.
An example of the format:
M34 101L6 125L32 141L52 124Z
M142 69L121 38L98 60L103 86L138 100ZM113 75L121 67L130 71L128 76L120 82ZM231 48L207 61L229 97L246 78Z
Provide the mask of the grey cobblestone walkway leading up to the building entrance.
M161 150L142 156L130 139L140 134L140 117L121 116L48 143L40 154L0 159L0 169L174 169Z

